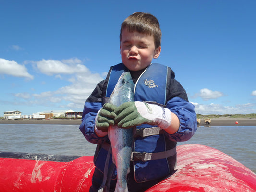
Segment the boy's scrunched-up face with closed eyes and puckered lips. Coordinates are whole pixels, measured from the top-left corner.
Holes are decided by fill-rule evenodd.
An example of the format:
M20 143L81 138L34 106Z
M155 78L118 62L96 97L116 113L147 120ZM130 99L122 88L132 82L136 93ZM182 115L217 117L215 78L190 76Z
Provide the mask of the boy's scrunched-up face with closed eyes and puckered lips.
M161 47L155 48L154 37L138 32L122 31L120 52L123 64L131 71L139 71L158 58Z

